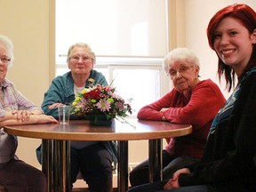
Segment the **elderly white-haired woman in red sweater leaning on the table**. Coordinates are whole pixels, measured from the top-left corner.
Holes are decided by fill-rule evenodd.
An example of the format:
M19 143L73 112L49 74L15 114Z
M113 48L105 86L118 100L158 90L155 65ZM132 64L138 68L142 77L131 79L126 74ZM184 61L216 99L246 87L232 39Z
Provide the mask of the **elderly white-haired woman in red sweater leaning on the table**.
M212 80L199 79L199 60L188 48L169 52L163 65L174 88L160 100L141 108L138 118L193 126L193 132L187 136L166 138L167 146L163 150L163 179L166 180L172 178L173 172L203 156L212 120L225 98ZM148 169L146 160L132 170L132 187L148 183ZM155 180L160 179L159 172L155 177Z

